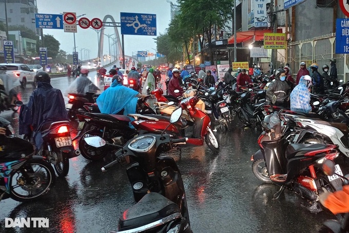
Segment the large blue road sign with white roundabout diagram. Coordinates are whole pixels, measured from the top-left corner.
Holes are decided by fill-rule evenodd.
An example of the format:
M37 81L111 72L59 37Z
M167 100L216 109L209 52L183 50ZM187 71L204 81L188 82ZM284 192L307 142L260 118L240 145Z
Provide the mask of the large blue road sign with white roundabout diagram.
M120 12L121 34L157 35L157 15Z

